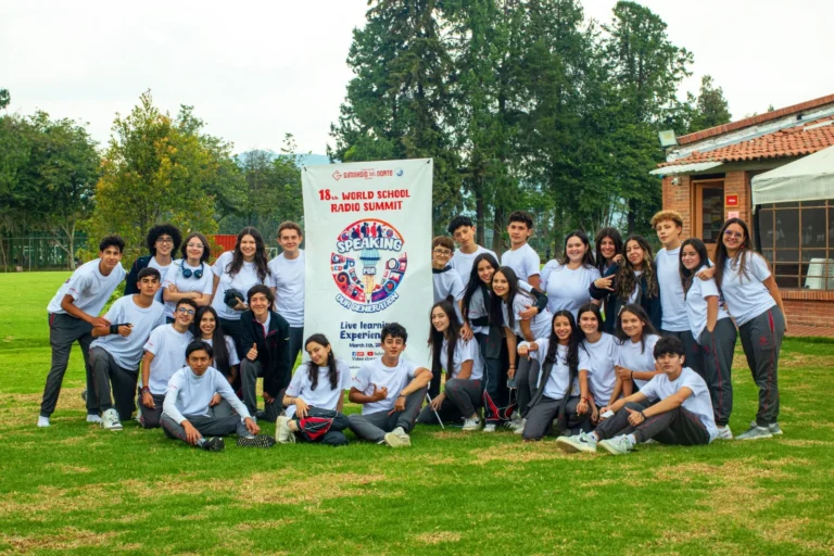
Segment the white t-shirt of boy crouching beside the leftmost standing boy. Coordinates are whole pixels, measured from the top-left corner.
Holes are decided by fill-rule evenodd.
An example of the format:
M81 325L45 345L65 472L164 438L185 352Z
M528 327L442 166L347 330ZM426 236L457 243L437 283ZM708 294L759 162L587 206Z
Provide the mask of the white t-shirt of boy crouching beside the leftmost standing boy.
M101 348L113 356L116 365L132 370L142 361L142 348L151 330L165 324L165 307L154 301L150 307L142 308L136 304L134 295L125 295L113 302L104 318L112 325L134 325L134 330L127 338L119 334L102 336L93 340L90 348Z

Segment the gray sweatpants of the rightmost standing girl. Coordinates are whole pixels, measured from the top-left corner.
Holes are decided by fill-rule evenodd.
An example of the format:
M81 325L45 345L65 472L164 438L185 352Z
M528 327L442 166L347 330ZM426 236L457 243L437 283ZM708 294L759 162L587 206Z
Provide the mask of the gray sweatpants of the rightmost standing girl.
M759 410L756 424L759 427L779 420L779 352L785 336L785 316L773 305L761 315L751 318L738 328L742 348L753 380L759 387Z

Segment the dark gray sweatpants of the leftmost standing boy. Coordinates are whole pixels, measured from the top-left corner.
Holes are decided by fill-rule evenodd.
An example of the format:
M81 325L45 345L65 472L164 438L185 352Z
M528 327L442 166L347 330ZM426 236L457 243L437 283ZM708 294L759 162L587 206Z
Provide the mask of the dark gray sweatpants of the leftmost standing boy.
M64 313L49 313L49 345L52 348L52 366L49 369L49 375L47 375L43 399L40 402L41 417L49 417L55 410L64 374L67 365L70 365L70 352L75 342L78 342L81 348L84 368L87 374L87 413L98 415L99 401L96 397L96 388L90 370L91 332L92 326L84 320Z

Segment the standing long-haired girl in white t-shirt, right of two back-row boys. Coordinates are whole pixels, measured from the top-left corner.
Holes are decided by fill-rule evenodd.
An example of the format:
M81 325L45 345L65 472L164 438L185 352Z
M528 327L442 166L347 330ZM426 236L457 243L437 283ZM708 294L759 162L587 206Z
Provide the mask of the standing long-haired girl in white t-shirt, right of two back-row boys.
M589 288L597 278L599 270L594 266L587 236L581 230L573 231L565 238L563 257L548 261L542 268L541 289L547 294L547 311L555 314L567 309L577 318L579 307L592 301Z

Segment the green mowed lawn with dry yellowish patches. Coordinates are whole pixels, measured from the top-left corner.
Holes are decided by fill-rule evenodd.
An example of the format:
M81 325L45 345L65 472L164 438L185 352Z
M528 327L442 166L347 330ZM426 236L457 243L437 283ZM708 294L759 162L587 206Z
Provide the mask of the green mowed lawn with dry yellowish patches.
M35 427L46 306L67 276L0 275L2 552L833 554L832 343L785 341L773 440L568 456L553 440L418 427L399 451L214 454L132 421L87 425L77 348L52 427ZM742 432L756 391L741 352L734 386Z

